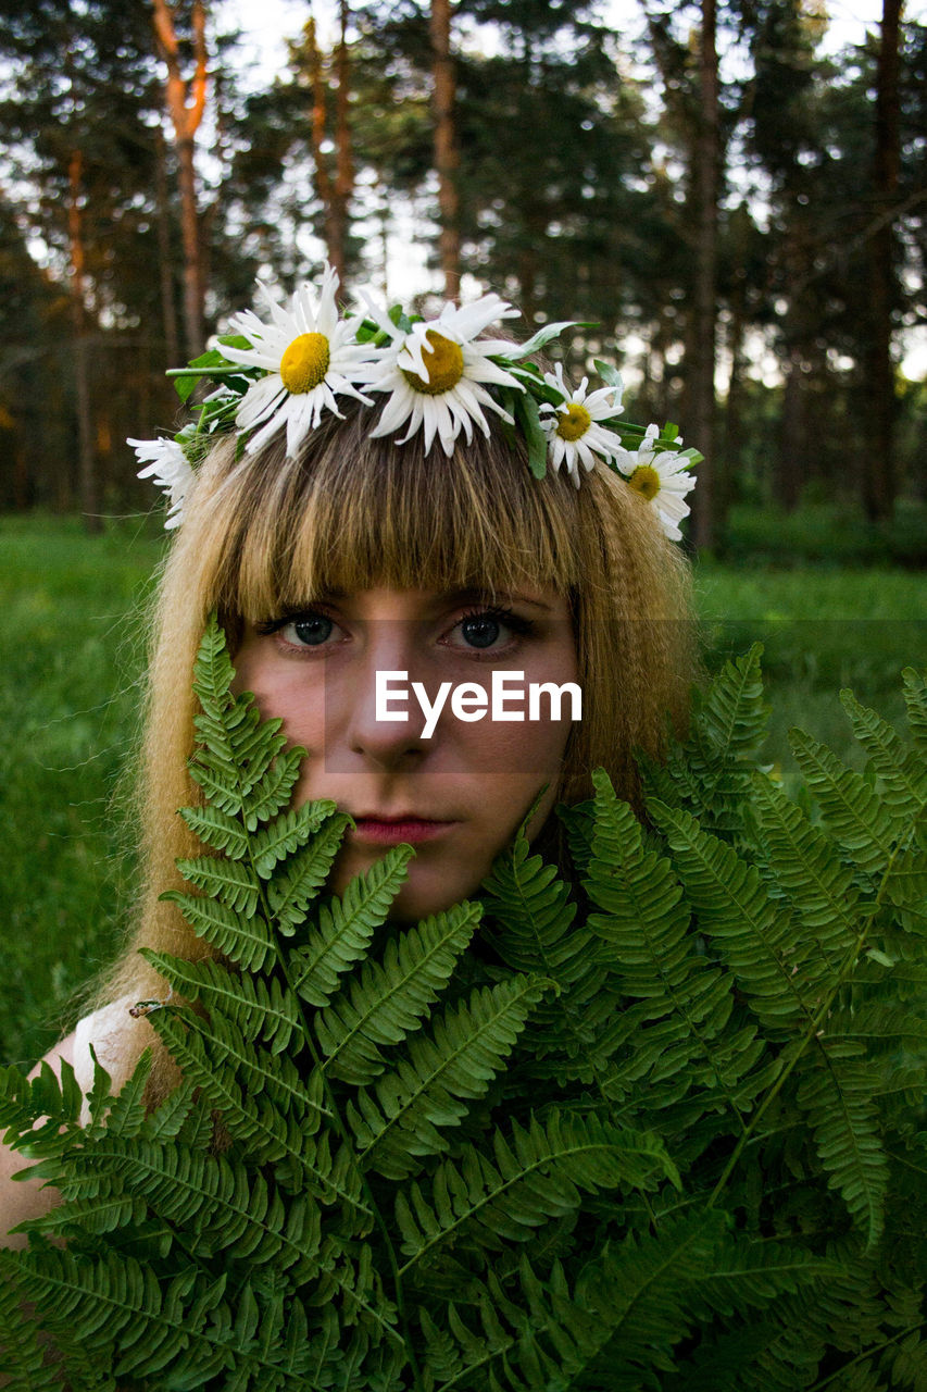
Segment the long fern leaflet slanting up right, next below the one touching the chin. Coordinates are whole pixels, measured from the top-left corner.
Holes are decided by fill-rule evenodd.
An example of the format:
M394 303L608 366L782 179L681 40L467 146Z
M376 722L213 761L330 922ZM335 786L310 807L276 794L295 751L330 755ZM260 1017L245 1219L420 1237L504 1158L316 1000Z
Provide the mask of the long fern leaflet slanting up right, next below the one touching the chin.
M543 977L516 976L482 987L434 1020L430 1036L413 1034L406 1058L358 1090L347 1119L363 1168L402 1179L420 1157L443 1148L438 1126L457 1126L466 1102L482 1097L525 1027L532 1006L550 988Z

